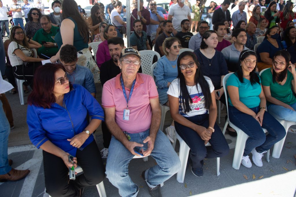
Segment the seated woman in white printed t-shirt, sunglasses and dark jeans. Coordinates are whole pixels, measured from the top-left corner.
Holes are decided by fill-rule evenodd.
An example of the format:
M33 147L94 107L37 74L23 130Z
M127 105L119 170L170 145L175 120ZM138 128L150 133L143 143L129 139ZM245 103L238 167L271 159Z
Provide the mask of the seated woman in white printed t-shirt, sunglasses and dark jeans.
M197 57L185 51L177 61L178 77L168 89L170 114L179 136L190 147L191 172L203 175L203 159L223 157L229 146L219 126L215 123L217 106L214 86L210 78L203 76ZM205 146L210 142L211 146Z

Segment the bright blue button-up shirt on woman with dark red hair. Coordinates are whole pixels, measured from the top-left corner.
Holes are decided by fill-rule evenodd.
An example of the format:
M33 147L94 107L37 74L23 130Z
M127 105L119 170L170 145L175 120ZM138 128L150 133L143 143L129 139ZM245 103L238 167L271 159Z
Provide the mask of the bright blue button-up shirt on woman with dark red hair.
M72 90L64 95L63 107L52 103L51 108L28 105L27 123L31 142L40 148L50 140L65 152L75 156L77 148L67 139L73 138L88 126L86 115L104 121L104 111L96 99L81 85L73 84ZM94 140L90 135L79 148L82 150Z

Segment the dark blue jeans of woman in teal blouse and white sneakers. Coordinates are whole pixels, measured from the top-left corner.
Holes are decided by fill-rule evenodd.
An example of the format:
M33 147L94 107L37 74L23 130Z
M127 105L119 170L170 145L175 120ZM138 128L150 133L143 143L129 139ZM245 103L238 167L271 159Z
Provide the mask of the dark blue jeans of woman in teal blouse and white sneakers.
M259 112L259 106L250 109L256 114ZM258 121L251 115L243 113L230 105L228 110L230 122L249 136L244 147L244 156L250 154L254 148L259 153L267 151L286 135L284 127L267 111L264 113L262 122L262 128L268 131L268 135L265 135Z

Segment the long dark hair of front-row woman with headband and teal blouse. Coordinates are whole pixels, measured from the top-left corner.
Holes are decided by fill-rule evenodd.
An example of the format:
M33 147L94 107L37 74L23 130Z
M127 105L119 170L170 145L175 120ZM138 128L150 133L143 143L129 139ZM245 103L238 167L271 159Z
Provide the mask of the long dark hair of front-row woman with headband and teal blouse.
M256 57L256 66L257 66L258 57L257 57L257 55L256 55L256 53L254 51L252 51L252 50L244 50L239 55L238 70L235 72L235 74L239 78L239 81L242 82L242 83L244 82L244 74L243 74L243 71L242 71L241 62L244 61L244 59L247 58L250 55L253 55L253 56ZM252 85L255 84L255 83L260 84L259 76L258 76L258 74L255 73L255 70L256 70L255 68L250 72L250 82L251 82Z

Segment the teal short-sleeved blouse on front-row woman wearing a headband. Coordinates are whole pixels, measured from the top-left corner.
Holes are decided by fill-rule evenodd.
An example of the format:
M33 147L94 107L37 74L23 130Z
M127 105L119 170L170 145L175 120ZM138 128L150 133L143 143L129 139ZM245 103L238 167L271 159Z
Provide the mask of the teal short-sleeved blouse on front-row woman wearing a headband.
M236 73L229 76L226 82L227 86L235 86L239 88L239 100L244 103L248 108L258 107L260 104L259 95L261 93L261 81L260 84L251 84L248 79L244 79L244 82L240 82ZM228 98L229 105L232 105L230 97Z

